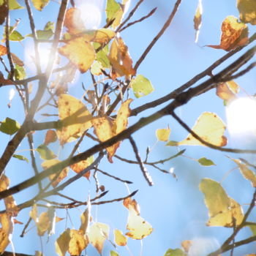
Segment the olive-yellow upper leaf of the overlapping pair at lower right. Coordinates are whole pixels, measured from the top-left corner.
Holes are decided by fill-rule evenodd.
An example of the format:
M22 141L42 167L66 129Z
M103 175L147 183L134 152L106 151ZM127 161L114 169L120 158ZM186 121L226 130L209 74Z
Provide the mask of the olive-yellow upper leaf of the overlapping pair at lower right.
M227 211L230 206L230 199L219 182L210 178L203 178L199 184L199 189L205 195L205 203L210 217Z

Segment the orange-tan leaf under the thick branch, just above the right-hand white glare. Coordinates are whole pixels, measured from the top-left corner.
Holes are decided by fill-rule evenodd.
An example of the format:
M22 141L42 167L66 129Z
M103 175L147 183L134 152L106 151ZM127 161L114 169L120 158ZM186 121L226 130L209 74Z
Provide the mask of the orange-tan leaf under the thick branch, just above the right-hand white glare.
M234 99L238 91L239 91L238 84L235 81L230 80L226 83L219 83L217 86L216 94L221 99L228 101L230 99Z

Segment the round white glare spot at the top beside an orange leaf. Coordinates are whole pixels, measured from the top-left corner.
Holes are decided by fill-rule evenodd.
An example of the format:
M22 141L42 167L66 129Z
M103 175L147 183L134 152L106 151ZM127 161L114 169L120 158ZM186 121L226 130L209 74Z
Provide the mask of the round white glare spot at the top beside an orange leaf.
M95 2L85 1L78 5L82 13L82 20L86 29L97 29L102 20L102 10L99 4Z

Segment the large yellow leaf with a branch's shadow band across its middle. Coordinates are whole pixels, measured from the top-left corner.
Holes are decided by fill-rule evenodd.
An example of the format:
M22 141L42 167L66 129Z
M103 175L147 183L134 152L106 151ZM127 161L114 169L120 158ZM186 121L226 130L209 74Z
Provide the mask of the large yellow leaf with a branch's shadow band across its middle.
M79 138L91 127L91 113L79 99L68 94L59 96L59 118L63 127L57 130L61 146Z

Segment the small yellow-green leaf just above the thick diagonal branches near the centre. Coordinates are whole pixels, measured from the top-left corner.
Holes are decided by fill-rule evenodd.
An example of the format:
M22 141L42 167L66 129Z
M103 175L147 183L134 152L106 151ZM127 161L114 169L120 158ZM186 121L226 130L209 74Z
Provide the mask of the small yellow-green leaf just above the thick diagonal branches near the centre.
M154 91L150 80L143 77L143 75L137 75L136 78L132 79L131 85L136 98L146 96Z

